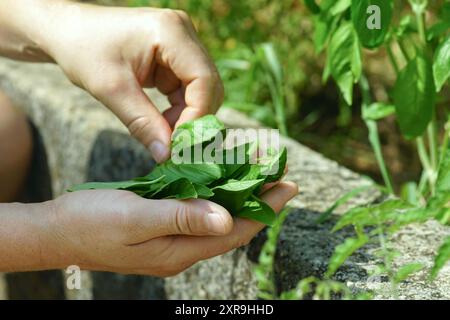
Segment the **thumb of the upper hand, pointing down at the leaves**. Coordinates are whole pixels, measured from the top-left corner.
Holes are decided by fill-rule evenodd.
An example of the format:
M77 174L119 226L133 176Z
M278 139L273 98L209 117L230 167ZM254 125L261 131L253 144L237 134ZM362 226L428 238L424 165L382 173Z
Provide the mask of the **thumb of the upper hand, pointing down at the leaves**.
M128 81L120 77L117 85L101 87L95 96L150 150L157 162L170 157L172 129L134 77Z

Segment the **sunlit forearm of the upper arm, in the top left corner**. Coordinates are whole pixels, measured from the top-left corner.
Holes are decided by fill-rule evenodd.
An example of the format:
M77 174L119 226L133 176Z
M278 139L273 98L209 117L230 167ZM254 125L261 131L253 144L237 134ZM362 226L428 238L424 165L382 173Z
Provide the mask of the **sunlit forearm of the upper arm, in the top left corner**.
M1 0L0 55L24 61L52 62L48 41L65 0ZM53 31L52 31L53 30Z

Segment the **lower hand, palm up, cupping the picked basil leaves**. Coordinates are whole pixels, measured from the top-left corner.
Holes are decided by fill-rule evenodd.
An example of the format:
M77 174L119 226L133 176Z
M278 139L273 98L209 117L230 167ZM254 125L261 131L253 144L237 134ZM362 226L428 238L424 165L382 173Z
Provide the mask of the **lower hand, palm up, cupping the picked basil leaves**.
M297 193L280 182L261 198L275 211ZM128 191L79 191L51 202L46 236L59 268L171 276L247 244L264 225L206 200L148 200ZM210 215L212 213L212 215ZM211 218L211 219L209 219ZM52 264L50 264L52 265Z

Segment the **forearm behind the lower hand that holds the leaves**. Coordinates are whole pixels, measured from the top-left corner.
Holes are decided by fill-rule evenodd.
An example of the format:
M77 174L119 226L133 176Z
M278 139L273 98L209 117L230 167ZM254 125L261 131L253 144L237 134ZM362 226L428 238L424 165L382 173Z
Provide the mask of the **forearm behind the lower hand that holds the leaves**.
M63 267L51 211L50 202L0 204L0 272Z

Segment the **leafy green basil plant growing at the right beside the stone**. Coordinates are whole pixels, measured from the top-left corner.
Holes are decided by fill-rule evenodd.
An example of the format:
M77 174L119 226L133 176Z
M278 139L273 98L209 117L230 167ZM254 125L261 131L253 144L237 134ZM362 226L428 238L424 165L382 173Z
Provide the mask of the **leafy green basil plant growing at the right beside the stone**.
M426 0L409 0L411 11L402 10L401 4L394 6L393 1L387 0L323 0L320 4L305 0L305 4L314 15L316 50L326 49L323 79L332 77L336 81L348 105L352 105L354 85L359 83L362 117L385 183L380 189L389 195L389 200L346 212L333 232L353 226L355 236L335 248L325 280L303 279L295 289L281 296L303 298L312 284L321 281L325 281L322 286L328 288L321 289L326 293L324 298L330 298L329 290L333 287L347 292L343 284L336 284L331 278L355 251L375 242L379 247L376 252L379 264L374 273L388 277L392 295L397 297L398 283L424 266L415 262L396 266L399 253L390 244L391 236L407 224L429 219L450 224L450 113L448 104L439 103L445 101L444 87L450 76L450 3L441 4L437 21L428 28ZM369 9L373 5L380 9L381 15L377 16L377 8ZM393 16L402 14L398 21L394 20ZM381 28L368 28L368 23L377 23L373 20L377 18ZM394 54L394 46L399 48L400 55ZM374 102L362 67L363 48L380 50L382 47L396 73L396 81L389 101ZM387 116L397 118L405 139L415 139L423 166L420 181L408 183L400 199L395 198L378 135L377 121ZM337 206L363 190L364 187L344 195L319 221L327 219ZM450 237L444 239L438 249L430 280L448 260Z

